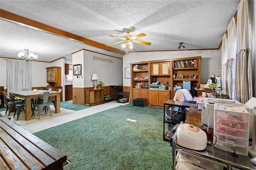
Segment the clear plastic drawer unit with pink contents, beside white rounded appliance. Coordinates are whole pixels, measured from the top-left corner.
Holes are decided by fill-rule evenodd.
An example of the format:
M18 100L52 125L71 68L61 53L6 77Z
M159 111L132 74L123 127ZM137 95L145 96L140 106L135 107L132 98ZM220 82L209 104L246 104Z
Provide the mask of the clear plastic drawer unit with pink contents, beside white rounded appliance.
M217 148L248 155L249 113L245 107L214 104L214 145Z

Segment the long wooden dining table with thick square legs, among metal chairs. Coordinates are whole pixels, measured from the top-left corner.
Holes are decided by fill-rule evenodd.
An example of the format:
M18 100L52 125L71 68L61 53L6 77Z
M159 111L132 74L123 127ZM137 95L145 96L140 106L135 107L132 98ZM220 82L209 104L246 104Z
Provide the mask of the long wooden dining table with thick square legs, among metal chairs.
M47 90L38 90L37 92L33 91L15 91L10 92L14 94L17 97L21 97L25 99L25 120L29 121L31 120L31 99L36 98L39 93L47 92ZM55 102L55 113L60 113L60 92L58 91L52 91L52 96L56 96L56 102Z

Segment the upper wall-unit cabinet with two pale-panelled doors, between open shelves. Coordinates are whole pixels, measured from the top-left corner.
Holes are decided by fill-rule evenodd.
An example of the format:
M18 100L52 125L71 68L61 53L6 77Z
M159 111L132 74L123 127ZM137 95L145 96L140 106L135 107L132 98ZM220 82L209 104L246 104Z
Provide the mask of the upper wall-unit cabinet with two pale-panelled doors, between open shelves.
M151 75L170 75L170 61L151 63Z

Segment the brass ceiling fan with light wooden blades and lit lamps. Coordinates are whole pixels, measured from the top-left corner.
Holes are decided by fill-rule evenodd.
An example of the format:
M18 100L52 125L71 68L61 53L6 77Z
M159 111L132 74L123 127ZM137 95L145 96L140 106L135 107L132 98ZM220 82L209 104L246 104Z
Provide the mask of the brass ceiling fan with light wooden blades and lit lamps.
M126 47L131 46L131 45L130 45L131 42L134 42L134 43L141 43L141 44L144 44L144 45L150 45L150 44L151 44L150 42L144 42L144 41L140 41L140 40L135 40L135 39L137 39L137 38L141 38L141 37L146 36L146 34L144 34L144 33L140 33L140 34L138 34L138 35L136 35L136 36L131 36L131 35L129 35L129 33L131 32L131 30L126 30L126 32L127 32L128 35L123 36L123 37L110 36L110 37L114 37L114 38L119 38L119 39L121 39L121 40L123 40L123 41L116 42L116 43L112 43L112 44L109 44L109 45L107 45L107 46L116 45L116 44L122 43L122 42L125 42Z

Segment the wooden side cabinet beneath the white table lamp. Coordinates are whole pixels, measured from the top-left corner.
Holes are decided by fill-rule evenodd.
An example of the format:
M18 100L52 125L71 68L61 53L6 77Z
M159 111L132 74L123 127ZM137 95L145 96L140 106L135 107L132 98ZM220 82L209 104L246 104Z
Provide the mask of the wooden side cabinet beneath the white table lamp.
M96 106L104 103L103 89L84 90L84 93L86 106Z

